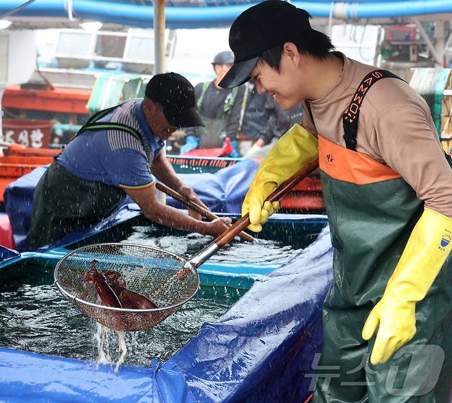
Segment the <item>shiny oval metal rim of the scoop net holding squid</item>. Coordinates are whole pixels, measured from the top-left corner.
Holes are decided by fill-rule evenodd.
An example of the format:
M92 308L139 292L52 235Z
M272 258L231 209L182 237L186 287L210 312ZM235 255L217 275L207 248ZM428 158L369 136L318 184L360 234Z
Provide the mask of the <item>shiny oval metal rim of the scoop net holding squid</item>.
M65 295L65 297L67 299L69 299L69 301L72 301L75 305L77 305L76 302L78 302L78 303L81 303L84 306L90 306L91 308L97 308L97 309L102 309L102 310L106 310L106 311L113 311L113 312L122 312L122 313L128 313L128 314L131 314L131 313L146 313L146 312L148 312L148 313L150 313L150 312L163 312L163 311L166 311L166 310L171 310L173 308L178 308L179 306L182 306L184 303L190 301L190 299L192 299L196 295L196 292L198 292L199 285L200 285L199 273L198 273L198 270L196 270L196 268L194 266L190 266L190 268L189 268L189 270L191 270L192 273L194 275L196 275L196 287L194 288L194 292L192 292L192 294L189 295L187 298L185 298L183 301L179 301L178 303L175 303L174 305L165 306L163 308L129 309L129 308L115 308L115 307L112 307L112 306L99 305L97 303L85 301L84 299L81 299L79 297L75 297L70 292L65 290L65 288L58 281L58 273L59 273L60 266L71 255L74 255L74 253L77 253L77 252L82 251L84 249L94 248L94 247L97 247L97 246L117 246L117 245L134 246L134 247L137 246L137 247L142 248L142 249L152 249L152 251L157 251L159 253L166 253L168 255L172 255L172 257L175 257L177 260L181 260L181 262L185 262L185 263L188 262L188 260L185 257L183 257L181 255L178 255L177 253L168 252L168 251L165 251L164 249L157 248L157 246L140 245L140 244L133 244L133 243L128 243L128 242L106 242L106 243L102 243L102 244L89 244L89 245L81 246L80 248L74 249L74 251L71 251L71 252L67 253L67 255L65 255L62 259L60 259L58 261L58 263L56 264L55 269L54 269L54 284L56 285L58 290L60 290L60 292L63 295Z

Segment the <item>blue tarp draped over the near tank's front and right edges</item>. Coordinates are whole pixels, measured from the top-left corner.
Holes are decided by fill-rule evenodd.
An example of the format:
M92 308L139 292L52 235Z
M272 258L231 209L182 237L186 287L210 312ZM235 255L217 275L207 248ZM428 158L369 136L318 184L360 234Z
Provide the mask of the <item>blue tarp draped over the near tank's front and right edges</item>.
M95 369L93 362L0 348L8 402L303 402L321 350L321 304L332 278L328 229L255 282L167 362Z

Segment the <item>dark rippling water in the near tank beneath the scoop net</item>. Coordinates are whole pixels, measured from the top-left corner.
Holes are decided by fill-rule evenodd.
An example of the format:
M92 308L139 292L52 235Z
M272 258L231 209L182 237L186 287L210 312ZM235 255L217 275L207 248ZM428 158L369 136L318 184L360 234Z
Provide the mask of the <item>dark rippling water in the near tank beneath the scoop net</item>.
M39 270L30 266L30 270ZM83 316L52 284L52 273L40 278L0 285L0 346L96 360L97 326ZM45 284L43 284L45 283ZM204 322L215 321L245 290L201 287L182 308L148 330L126 334L126 365L147 366L151 358L167 360L192 338ZM110 352L117 358L117 336L111 333Z

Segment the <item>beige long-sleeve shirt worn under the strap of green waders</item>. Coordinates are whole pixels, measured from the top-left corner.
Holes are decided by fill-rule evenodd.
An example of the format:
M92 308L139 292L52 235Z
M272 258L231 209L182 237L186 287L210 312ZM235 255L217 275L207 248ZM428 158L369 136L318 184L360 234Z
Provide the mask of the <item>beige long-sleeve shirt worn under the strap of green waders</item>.
M376 67L340 56L343 72L335 87L309 102L315 127L307 111L302 125L345 147L342 115L361 80ZM366 93L359 114L357 152L388 165L413 187L426 207L452 218L452 170L427 102L406 82L383 78Z

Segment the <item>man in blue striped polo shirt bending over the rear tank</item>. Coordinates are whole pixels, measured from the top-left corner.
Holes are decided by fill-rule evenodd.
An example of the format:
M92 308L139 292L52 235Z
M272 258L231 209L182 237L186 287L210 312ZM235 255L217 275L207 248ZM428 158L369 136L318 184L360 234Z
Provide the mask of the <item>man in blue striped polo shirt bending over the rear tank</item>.
M30 246L45 246L89 227L131 196L144 216L159 224L218 235L229 218L212 222L159 203L155 177L196 203L161 151L181 126L202 126L192 84L176 73L157 74L144 100L133 100L91 116L47 169L33 198ZM151 173L152 172L152 173Z

